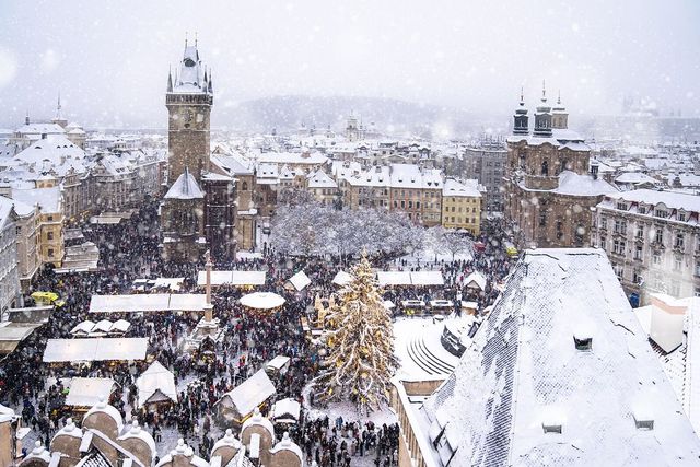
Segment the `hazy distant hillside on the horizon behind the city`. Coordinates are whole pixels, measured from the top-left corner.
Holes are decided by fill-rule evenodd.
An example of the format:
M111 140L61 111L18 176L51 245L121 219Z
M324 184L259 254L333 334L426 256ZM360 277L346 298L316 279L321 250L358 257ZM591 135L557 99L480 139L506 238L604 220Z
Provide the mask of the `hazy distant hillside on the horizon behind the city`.
M383 132L431 137L447 128L450 133L478 133L487 122L466 109L423 105L381 97L312 97L287 95L256 98L236 105L214 106L213 125L241 131L294 131L304 122L325 129L342 130L350 112L362 117L365 127L374 122Z

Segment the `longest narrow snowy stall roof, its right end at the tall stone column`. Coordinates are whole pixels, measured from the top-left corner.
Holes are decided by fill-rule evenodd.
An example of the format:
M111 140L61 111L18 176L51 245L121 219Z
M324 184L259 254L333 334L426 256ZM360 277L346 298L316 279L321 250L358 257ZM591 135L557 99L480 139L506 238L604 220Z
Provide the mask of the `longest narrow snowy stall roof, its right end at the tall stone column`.
M207 295L198 293L138 293L127 295L93 295L90 313L200 312Z

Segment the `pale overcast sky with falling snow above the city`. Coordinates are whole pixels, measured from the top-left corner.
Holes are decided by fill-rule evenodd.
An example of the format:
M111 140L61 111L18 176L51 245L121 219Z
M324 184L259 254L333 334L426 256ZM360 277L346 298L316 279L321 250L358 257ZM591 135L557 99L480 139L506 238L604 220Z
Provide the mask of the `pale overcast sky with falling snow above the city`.
M59 90L85 126L165 126L185 32L215 106L339 94L510 115L521 84L535 103L546 79L572 114L629 94L700 115L697 0L3 1L0 14L5 127L50 118Z

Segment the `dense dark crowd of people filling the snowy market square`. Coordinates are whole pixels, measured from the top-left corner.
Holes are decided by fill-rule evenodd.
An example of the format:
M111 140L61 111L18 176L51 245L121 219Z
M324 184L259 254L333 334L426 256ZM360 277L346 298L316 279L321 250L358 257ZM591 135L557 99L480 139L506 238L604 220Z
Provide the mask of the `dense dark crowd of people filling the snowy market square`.
M0 402L16 408L26 425L32 427L46 445L71 416L65 406L65 386L66 378L72 376L114 378L119 389L110 401L125 419L138 419L159 442L165 431L177 431L179 436L194 442L203 457L209 456L215 434L221 433L214 402L278 354L290 357L291 364L284 374L275 376L277 397L296 398L308 406L302 394L317 373L320 357L306 338L300 320L313 313L316 295L327 297L337 291L332 279L339 270L348 268L347 258L342 262L327 258L291 259L266 245L265 254L259 257L215 264L214 269L266 271L265 289L282 295L287 303L272 314L250 315L238 303L244 291L217 289L212 297L214 315L224 332L217 343L214 359L203 360L196 352L184 351L184 342L199 317L164 313L129 316L129 336L149 339L149 354L174 373L178 386L178 402L170 410L154 413L137 408L136 378L148 367L145 362L51 366L42 361L46 341L69 338L71 328L89 318L93 294L130 293L136 279L156 277L184 277L183 291L192 292L197 287L197 271L203 264L171 264L161 259L155 205L144 206L117 225L92 225L84 229L84 234L100 248L100 271L57 275L47 268L38 273L32 291L55 291L65 304L0 363ZM468 260L409 265L400 259L378 259L377 267L441 270L447 278L444 288L393 289L386 291L386 297L401 301L430 294L452 299L460 289L459 281L470 271L479 270L488 277L487 290L477 297L480 305L486 306L494 300L498 294L494 285L509 268L508 258L495 255L491 249L495 246L491 243L487 245L486 252L476 252ZM312 279L313 291L296 292L288 287L291 275L302 269ZM28 294L25 300L31 303ZM395 310L395 313L400 311ZM334 423L327 417L302 417L291 433L307 460L314 459L319 466L350 466L353 458L369 455L374 456L376 466L387 467L397 462L396 424L375 427L369 419L362 422L338 419ZM164 452L170 448L172 446L162 446Z

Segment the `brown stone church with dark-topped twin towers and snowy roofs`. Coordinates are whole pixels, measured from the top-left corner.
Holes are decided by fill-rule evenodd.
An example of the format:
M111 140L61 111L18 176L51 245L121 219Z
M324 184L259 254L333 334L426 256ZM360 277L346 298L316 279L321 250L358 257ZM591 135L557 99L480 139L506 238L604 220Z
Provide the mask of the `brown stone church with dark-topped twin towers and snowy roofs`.
M604 195L617 191L598 178L583 139L561 127L567 124L563 106L557 104L556 109L552 120L542 90L530 135L521 96L508 139L504 210L520 247L587 245L595 206Z

